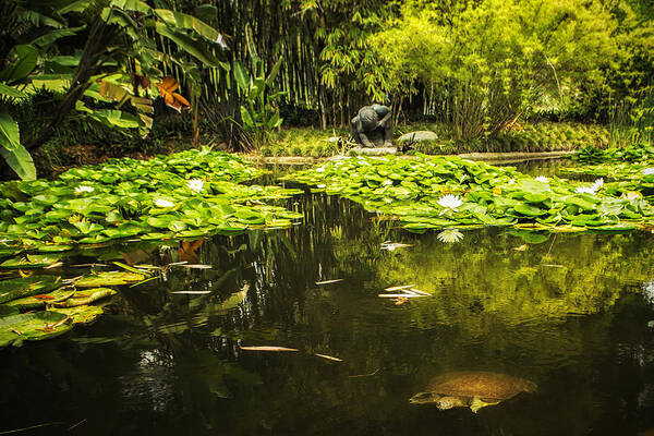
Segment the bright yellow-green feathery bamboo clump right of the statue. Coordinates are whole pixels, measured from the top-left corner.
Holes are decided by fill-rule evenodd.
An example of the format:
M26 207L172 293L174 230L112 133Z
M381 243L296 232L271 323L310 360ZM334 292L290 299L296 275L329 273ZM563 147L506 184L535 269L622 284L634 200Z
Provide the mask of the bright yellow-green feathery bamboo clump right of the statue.
M457 138L496 134L543 98L602 81L619 51L598 1L487 0L449 20L408 1L391 25L371 38L390 86L433 89Z

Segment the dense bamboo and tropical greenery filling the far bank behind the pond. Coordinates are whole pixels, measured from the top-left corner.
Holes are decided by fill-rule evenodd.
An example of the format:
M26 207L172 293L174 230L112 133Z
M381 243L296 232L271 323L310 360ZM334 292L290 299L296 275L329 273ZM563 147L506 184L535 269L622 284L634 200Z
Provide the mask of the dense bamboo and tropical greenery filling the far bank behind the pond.
M44 145L55 164L61 146L171 138L275 155L276 129L340 129L370 101L457 149L533 148L506 137L542 120L608 123L593 145L651 140L652 11L637 0L10 0L0 21L0 153L21 178Z

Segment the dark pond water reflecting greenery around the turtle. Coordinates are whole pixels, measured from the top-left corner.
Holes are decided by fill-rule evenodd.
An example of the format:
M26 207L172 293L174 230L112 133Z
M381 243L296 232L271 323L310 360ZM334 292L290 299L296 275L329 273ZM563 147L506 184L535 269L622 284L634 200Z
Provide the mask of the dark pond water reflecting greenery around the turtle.
M637 435L654 427L653 234L484 229L444 243L336 197L306 194L291 205L305 222L288 230L71 258L211 269L173 268L121 289L90 326L1 350L0 431ZM384 241L412 245L389 252ZM330 279L342 281L316 284ZM377 296L409 283L433 296L402 305ZM189 290L210 293L172 293ZM476 414L409 403L451 371L511 374L538 388Z

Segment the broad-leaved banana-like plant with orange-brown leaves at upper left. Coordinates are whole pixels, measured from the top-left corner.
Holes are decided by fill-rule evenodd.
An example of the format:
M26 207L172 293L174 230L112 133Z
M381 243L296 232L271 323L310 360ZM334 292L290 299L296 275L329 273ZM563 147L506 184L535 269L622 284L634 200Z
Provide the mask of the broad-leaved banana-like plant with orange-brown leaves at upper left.
M164 77L162 68L175 65L191 75L197 63L225 65L216 56L227 48L223 36L193 15L150 7L141 0L113 0L107 5L90 0L66 0L56 7L43 3L31 2L33 10L23 10L15 2L13 20L31 27L27 34L37 37L12 48L7 59L15 61L0 75L4 98L24 98L24 94L40 86L62 93L52 119L24 148L16 146L17 126L10 121L8 109L2 111L3 155L11 155L8 162L22 178L35 177L33 165L26 160L27 152L46 143L72 111L86 112L117 129L140 129L145 135L153 123L150 96L164 96L178 110L189 106L173 94L179 85ZM44 19L33 24L31 20L44 13L58 21ZM78 26L71 27L73 24ZM16 31L17 38L21 32ZM85 40L84 46L56 47L57 39L68 36ZM174 46L177 52L160 51L158 45L162 41ZM24 89L22 94L17 85Z

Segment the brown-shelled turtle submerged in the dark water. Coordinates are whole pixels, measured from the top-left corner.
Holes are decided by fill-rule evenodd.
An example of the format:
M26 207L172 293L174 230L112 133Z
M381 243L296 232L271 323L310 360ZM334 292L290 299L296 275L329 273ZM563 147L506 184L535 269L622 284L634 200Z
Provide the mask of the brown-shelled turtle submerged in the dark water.
M476 413L486 405L534 390L535 384L507 374L464 371L432 378L427 391L414 395L409 401L413 404L434 403L440 410L469 407Z

